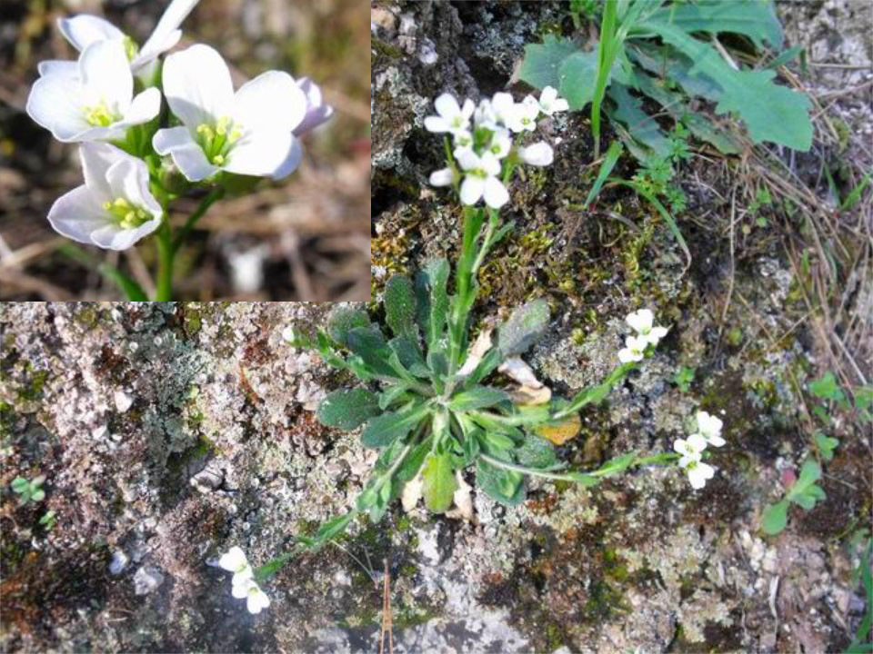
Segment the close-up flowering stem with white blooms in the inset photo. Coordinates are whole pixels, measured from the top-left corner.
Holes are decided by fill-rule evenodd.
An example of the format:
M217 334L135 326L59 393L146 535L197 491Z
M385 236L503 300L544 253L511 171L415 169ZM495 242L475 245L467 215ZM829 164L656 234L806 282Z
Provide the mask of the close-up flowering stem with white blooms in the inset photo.
M251 178L292 173L302 160L300 136L332 114L316 84L284 72L267 71L235 92L227 64L208 45L162 60L196 2L173 0L142 48L97 16L60 19L78 60L40 63L26 104L55 138L79 144L85 184L57 199L52 227L111 250L154 234L157 301L172 299L176 253L209 206ZM169 203L189 193L201 202L174 229ZM128 299L148 299L122 272L102 268Z

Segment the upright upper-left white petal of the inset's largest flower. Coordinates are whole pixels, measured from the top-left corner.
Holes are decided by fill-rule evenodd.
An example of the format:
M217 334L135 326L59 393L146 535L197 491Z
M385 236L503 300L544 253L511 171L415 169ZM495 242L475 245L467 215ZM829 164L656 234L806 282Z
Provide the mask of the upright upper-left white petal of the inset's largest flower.
M215 122L233 104L230 71L221 54L208 45L192 45L167 56L163 82L170 109L192 128Z

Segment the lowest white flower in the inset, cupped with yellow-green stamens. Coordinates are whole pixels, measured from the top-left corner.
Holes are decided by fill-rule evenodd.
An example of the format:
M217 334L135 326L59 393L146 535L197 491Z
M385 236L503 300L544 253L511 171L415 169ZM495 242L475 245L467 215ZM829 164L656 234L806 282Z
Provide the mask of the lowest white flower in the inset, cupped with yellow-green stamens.
M85 184L48 212L58 233L79 243L125 250L161 224L164 211L148 189L148 167L110 144L79 148Z

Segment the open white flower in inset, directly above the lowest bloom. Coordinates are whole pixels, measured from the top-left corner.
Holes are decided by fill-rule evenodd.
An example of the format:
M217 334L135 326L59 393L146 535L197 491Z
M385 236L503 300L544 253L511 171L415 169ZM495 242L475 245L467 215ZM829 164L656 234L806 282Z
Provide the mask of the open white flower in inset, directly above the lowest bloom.
M36 123L65 143L123 138L128 127L147 123L160 108L156 88L134 97L134 77L119 41L88 45L75 68L40 77L26 107Z

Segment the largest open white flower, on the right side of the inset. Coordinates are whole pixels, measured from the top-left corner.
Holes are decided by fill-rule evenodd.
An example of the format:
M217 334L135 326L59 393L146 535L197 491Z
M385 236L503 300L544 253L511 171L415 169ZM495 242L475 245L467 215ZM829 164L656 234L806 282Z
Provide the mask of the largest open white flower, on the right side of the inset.
M219 171L279 179L300 161L293 134L306 115L306 94L291 75L267 71L236 94L224 59L208 45L170 54L164 94L179 127L158 130L152 145L169 154L191 182Z

